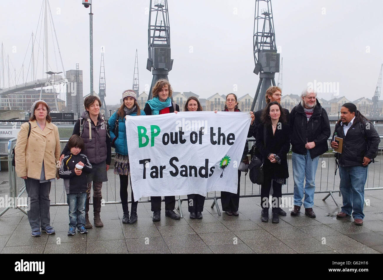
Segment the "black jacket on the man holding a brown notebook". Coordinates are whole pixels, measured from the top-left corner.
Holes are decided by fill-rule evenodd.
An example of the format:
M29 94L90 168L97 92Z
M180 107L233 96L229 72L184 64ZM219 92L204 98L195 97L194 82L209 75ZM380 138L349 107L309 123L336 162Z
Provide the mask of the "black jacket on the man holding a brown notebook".
M355 119L346 136L344 136L343 126L338 121L335 125L335 133L338 137L343 138L342 154L337 154L339 165L342 167L363 166L363 157L374 159L378 154L379 134L372 123L367 120L363 121L361 128L360 121Z

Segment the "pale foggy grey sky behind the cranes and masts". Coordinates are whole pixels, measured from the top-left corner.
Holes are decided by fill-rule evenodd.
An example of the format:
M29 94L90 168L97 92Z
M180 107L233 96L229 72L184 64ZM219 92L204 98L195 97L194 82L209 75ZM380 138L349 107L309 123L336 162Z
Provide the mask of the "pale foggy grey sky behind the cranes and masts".
M0 41L16 72L21 69L31 32L36 34L42 2L0 2ZM75 69L76 63L80 63L85 95L90 89L90 10L81 2L49 1L65 70ZM107 104L119 103L123 90L132 88L136 49L140 93L149 91L152 80L151 72L146 70L149 2L93 0L94 90L98 93L104 46ZM238 97L249 93L254 97L259 81L259 76L253 73L252 54L255 0L169 0L168 4L174 59L169 80L173 90L191 91L200 98L216 92L234 92ZM339 97L372 98L383 63L382 1L272 0L272 7L276 43L283 57L284 95L300 94L308 82L317 80L339 83ZM16 52L12 52L13 46ZM28 51L25 72L30 57ZM52 66L49 70L62 71L60 63L56 68L52 49L49 57ZM38 78L43 78L41 67L40 54ZM11 73L14 75L13 70ZM7 86L7 74L5 80ZM318 97L329 95L318 93Z

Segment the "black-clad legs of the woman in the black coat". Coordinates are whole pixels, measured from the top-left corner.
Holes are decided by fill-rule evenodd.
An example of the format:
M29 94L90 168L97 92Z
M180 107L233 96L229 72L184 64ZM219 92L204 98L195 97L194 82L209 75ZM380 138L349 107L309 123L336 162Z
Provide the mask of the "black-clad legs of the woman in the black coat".
M282 185L272 181L270 172L264 170L264 183L261 185L261 207L267 209L270 207L270 201L268 199L270 195L271 184L273 183L273 198L271 201L272 208L279 208L282 198Z

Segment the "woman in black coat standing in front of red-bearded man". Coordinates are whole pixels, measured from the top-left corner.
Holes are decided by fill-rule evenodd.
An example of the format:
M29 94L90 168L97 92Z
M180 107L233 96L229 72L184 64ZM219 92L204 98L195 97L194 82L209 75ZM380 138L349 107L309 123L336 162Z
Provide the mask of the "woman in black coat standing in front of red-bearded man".
M262 222L268 221L270 206L268 196L271 183L273 183L272 222L279 223L278 214L283 215L284 212L280 209L282 185L286 184L286 178L289 176L286 156L290 150L289 126L286 124L284 112L278 102L267 104L261 120L255 143L265 159L264 183L261 185ZM266 142L264 141L264 131L266 131Z

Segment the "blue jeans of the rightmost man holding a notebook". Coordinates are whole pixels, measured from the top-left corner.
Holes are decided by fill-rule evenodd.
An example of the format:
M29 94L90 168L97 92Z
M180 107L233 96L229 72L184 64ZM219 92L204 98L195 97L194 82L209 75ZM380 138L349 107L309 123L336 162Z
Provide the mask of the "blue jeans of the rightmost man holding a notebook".
M363 219L364 185L368 166L340 167L340 192L342 193L342 212L354 219Z

